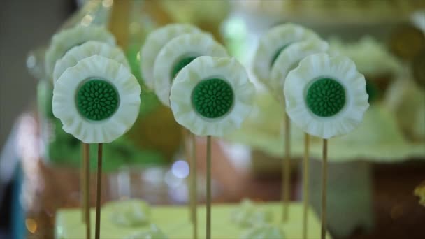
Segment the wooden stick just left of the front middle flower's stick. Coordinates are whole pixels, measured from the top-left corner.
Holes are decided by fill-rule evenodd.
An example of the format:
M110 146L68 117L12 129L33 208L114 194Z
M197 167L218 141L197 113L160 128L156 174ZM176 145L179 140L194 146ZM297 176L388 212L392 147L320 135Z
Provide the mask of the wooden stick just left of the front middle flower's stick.
M198 190L196 189L196 136L190 133L192 138L192 157L190 164L190 180L192 184L191 198L192 198L192 222L193 222L193 238L198 238L198 215L196 208L198 206Z

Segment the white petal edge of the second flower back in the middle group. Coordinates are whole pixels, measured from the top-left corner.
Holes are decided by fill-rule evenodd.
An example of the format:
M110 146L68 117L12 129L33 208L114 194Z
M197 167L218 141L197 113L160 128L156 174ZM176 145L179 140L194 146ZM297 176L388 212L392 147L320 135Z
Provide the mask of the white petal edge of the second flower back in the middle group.
M203 33L182 34L164 45L154 64L154 89L165 106L170 106L171 71L178 61L189 56L227 57L228 54L210 34Z

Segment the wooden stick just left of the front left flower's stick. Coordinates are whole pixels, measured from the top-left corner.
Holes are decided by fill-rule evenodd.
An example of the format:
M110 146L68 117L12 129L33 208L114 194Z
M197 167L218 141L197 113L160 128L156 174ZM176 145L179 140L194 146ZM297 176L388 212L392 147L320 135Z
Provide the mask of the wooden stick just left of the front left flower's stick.
M84 172L82 173L82 181L84 183L84 221L85 221L85 237L90 239L90 145L88 143L82 143L82 168Z

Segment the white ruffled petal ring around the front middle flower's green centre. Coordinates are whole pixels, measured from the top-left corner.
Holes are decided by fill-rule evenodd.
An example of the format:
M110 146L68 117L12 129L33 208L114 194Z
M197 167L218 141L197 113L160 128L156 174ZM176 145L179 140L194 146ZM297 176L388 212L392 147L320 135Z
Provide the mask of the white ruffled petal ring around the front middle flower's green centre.
M201 80L222 78L234 93L233 108L217 119L206 119L192 106L192 91ZM239 129L252 110L255 88L245 68L234 58L198 57L178 73L171 87L171 110L175 120L198 136L222 137Z

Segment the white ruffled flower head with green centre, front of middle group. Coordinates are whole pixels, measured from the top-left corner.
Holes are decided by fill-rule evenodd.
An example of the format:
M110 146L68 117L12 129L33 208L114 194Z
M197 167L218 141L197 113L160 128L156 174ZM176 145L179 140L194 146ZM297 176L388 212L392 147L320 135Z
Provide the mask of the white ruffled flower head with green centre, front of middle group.
M254 85L233 58L198 57L176 76L171 87L175 120L198 136L224 136L250 114Z

